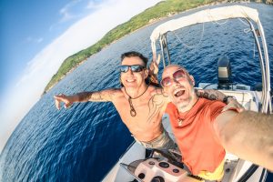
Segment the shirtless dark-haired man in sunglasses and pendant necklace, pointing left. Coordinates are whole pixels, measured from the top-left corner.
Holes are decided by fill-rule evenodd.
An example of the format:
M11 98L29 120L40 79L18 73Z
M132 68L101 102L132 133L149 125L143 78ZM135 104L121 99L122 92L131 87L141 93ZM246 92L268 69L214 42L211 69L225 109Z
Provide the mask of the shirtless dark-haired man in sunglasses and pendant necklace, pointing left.
M150 75L153 73L150 71ZM148 75L147 57L134 51L127 52L121 56L121 88L55 96L56 107L59 109L61 102L65 103L65 107L74 102L112 102L138 143L147 148L176 149L161 121L167 106L167 96L163 95L161 87L150 84ZM156 75L152 77L157 81ZM218 96L218 99L222 100L223 96Z

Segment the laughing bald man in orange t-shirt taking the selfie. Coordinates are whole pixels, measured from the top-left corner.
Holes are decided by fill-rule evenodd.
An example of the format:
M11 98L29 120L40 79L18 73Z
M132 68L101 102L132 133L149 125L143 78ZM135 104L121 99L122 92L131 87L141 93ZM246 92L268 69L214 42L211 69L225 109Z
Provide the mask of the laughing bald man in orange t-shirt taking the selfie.
M226 150L273 170L273 115L232 108L197 96L193 76L182 66L167 66L161 85L170 99L170 118L183 162L193 175L220 180Z

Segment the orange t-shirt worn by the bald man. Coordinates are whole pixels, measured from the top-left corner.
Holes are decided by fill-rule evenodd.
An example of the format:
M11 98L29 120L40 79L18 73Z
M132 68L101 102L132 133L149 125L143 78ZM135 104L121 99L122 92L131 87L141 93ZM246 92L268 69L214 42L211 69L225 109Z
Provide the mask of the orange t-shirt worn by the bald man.
M226 105L219 101L199 98L191 110L181 114L174 104L167 105L166 112L177 138L182 161L193 175L203 170L214 172L226 155L213 127L215 118L224 106ZM179 119L183 120L180 126Z

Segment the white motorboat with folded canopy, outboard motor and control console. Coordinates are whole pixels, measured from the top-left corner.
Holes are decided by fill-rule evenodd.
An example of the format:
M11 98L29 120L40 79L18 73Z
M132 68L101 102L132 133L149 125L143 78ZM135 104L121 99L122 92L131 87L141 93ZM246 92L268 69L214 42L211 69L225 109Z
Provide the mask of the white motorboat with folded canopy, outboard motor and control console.
M171 63L167 34L177 29L240 18L248 22L253 33L258 49L259 65L261 67L261 88L253 89L251 86L234 84L230 80L230 62L228 56L221 56L217 62L218 83L200 83L198 88L217 89L228 96L235 96L238 102L247 110L272 114L272 96L270 95L270 72L268 60L268 47L258 17L258 11L243 5L229 5L198 11L197 13L169 20L158 25L152 32L150 39L154 58L157 56L157 46L160 45L162 64L166 66ZM255 27L258 27L256 29ZM159 41L159 44L157 42ZM159 50L159 48L158 48ZM163 125L172 134L168 116L163 116ZM150 154L147 154L149 153ZM182 163L176 162L179 155L147 149L133 142L125 154L119 158L116 165L108 172L103 181L204 181L200 177L190 175ZM268 170L259 167L249 161L243 160L227 153L225 157L225 175L223 182L258 182L265 181Z

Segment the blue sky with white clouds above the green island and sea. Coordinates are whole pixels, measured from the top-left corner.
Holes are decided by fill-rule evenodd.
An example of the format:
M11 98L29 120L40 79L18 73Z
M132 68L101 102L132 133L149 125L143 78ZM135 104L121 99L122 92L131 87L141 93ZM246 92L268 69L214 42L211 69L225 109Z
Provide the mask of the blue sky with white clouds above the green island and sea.
M0 152L67 56L159 1L1 0Z

